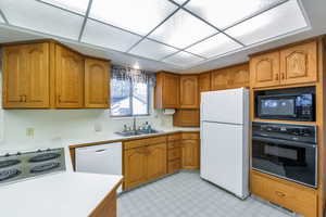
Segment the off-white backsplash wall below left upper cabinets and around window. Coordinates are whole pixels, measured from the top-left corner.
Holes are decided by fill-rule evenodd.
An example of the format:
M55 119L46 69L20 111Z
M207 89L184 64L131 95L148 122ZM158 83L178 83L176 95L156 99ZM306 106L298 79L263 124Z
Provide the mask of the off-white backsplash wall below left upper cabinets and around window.
M1 76L0 69L0 78ZM0 95L2 95L2 79L0 80ZM153 100L151 100L151 115L139 117L138 124L149 122L154 128L172 127L172 116L153 110L152 102ZM2 110L0 107L0 148L11 143L27 145L58 138L83 139L98 133L111 133L121 130L124 124L131 125L131 118L110 117L110 110ZM95 131L96 125L102 128L101 132ZM26 128L35 129L33 138L26 136Z

